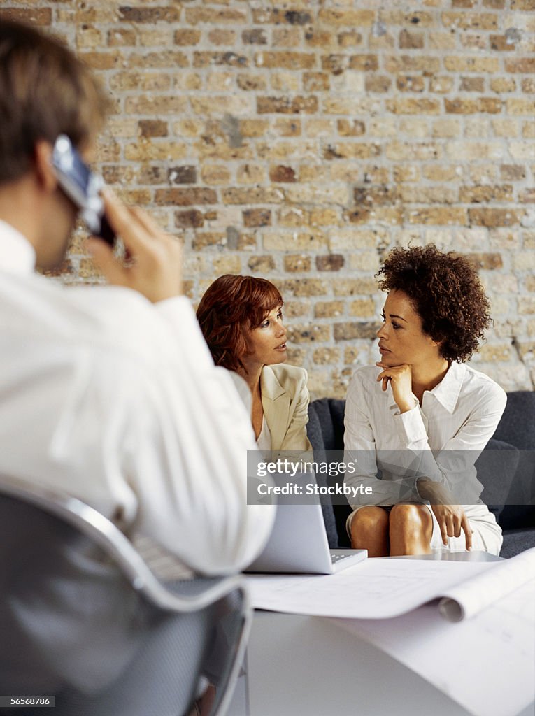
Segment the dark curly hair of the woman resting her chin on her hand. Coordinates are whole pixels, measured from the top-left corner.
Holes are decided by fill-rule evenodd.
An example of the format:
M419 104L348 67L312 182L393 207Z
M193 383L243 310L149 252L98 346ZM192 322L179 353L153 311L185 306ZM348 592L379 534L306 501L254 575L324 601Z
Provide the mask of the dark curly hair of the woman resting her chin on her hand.
M491 325L490 305L476 269L465 256L427 246L393 248L376 276L382 291L403 291L422 319L423 332L440 342L446 360L471 358Z

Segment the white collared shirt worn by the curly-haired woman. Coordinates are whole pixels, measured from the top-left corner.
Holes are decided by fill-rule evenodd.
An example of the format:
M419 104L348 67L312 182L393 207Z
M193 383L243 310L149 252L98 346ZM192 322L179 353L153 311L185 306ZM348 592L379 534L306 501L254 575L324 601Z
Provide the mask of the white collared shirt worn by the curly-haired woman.
M347 390L344 447L357 451L357 470L345 482L372 488L352 498L352 507L424 502L417 490L423 476L452 490L457 504L481 505L474 463L496 430L505 392L485 374L452 363L421 405L415 399L413 410L400 413L390 384L383 391L377 382L380 372L357 369Z

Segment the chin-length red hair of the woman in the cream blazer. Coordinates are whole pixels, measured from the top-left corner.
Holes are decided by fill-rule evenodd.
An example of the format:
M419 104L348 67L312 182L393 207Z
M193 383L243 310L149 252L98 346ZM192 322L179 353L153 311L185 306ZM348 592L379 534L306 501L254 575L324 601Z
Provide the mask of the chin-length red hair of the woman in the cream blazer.
M197 320L216 365L237 371L248 352L246 332L256 328L278 306L279 289L254 276L219 276L208 286Z

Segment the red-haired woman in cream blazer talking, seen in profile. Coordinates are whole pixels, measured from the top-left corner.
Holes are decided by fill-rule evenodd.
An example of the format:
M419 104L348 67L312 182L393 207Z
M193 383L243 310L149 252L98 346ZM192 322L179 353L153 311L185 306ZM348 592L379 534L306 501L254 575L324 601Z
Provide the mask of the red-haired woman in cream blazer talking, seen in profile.
M307 438L307 372L283 365L283 300L266 279L220 276L201 299L197 319L216 365L240 375L252 396L251 422L261 450L312 450Z

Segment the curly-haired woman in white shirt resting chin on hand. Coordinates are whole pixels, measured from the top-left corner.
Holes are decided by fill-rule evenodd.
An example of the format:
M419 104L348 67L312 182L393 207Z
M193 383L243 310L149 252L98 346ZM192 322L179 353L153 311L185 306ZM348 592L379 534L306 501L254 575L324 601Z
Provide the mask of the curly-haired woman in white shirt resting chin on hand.
M377 275L387 291L381 359L357 369L345 412L345 449L357 451L346 482L372 488L352 504L352 546L370 556L498 554L501 529L479 497L474 463L506 394L465 364L491 322L478 275L432 244L394 248Z

